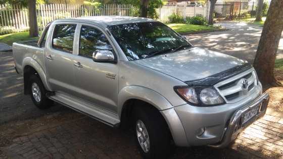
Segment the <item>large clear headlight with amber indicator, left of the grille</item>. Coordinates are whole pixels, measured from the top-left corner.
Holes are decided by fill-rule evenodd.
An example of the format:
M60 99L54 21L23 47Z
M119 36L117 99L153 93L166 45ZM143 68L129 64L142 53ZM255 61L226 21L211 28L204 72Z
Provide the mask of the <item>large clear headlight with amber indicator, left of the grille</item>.
M174 90L182 99L193 105L207 106L224 103L223 98L213 87L175 86Z

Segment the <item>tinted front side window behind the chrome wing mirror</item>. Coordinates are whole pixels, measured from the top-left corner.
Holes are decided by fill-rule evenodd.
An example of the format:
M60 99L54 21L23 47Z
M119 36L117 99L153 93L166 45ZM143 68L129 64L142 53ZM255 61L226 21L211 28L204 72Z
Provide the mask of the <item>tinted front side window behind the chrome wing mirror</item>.
M112 46L100 30L90 26L82 26L80 30L79 55L91 58L96 50L112 51Z

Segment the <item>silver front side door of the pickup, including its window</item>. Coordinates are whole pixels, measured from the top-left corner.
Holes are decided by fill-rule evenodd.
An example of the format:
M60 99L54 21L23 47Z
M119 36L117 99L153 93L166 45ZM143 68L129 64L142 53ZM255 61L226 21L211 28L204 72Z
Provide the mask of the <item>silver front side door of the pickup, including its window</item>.
M76 94L84 101L116 114L118 66L94 62L92 58L98 50L112 51L116 57L115 51L105 32L96 26L81 25L78 38L78 55L73 66Z

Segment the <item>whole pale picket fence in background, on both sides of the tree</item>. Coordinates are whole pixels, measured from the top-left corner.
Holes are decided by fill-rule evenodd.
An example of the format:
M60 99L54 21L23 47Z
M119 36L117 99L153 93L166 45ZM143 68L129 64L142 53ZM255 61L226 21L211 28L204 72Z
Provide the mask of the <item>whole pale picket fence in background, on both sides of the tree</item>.
M86 5L49 4L37 5L36 15L38 28L41 30L47 23L56 19L75 18L81 16L135 16L137 8L132 5L107 4L99 7ZM207 15L205 6L163 6L156 9L161 22L171 22L169 16L177 14L185 17ZM0 34L28 30L28 9L19 5L0 6Z

